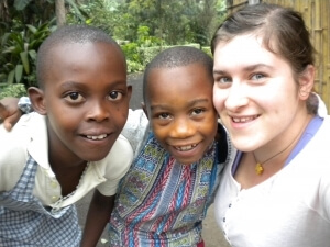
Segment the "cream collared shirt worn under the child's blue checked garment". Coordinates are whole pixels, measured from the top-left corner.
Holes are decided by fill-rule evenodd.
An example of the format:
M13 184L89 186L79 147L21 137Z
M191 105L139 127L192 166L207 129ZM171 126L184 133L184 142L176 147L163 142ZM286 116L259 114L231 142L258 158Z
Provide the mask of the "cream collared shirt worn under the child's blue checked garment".
M120 135L105 159L89 162L76 192L61 201L61 186L48 164L45 116L37 113L23 115L11 132L7 132L1 124L0 192L9 191L15 186L28 160L28 151L38 162L33 194L44 205L56 207L77 202L94 188L105 195L116 194L118 183L133 159L132 146Z

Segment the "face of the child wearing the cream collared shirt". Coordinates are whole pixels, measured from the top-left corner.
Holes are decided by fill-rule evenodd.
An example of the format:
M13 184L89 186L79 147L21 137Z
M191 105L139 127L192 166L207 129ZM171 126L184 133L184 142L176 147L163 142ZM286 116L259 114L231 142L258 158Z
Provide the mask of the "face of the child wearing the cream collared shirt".
M100 160L123 128L131 87L124 57L107 43L54 47L44 81L50 150L73 162Z

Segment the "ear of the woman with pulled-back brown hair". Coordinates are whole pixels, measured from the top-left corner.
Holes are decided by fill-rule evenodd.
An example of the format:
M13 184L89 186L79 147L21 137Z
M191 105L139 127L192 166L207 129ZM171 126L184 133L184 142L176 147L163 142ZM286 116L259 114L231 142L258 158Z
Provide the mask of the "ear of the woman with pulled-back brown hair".
M299 98L307 100L310 92L314 90L315 67L308 65L305 70L299 75Z

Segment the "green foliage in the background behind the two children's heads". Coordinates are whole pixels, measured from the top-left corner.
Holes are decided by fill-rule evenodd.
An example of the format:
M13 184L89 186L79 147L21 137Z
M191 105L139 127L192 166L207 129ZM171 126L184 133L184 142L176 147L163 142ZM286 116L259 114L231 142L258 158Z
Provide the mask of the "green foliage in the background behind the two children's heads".
M56 0L6 0L0 16L0 82L34 86L35 56L50 34ZM121 44L128 71L141 71L161 50L196 43L209 55L210 37L226 14L224 0L65 0L67 24L102 29ZM0 11L1 12L1 11ZM8 14L7 14L8 13ZM30 25L26 25L29 23ZM3 29L2 29L3 27Z

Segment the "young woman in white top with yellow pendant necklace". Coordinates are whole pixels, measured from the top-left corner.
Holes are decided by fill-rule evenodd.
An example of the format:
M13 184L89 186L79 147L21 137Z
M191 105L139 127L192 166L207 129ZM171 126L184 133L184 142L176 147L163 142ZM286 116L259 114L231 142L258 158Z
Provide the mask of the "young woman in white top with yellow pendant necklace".
M330 243L330 117L301 15L249 5L212 40L213 103L238 149L216 199L235 247Z

